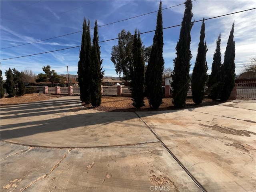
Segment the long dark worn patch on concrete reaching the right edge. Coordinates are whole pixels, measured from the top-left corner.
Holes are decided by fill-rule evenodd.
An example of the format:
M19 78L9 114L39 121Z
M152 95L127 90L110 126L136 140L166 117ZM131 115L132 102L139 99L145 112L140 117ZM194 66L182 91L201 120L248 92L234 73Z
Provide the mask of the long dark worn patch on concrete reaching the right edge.
M251 131L247 131L247 130L236 130L233 128L228 128L228 127L221 127L218 125L214 125L214 126L208 126L208 125L204 125L204 124L199 124L200 126L204 126L204 127L208 127L211 128L212 130L221 132L221 133L226 133L226 134L232 134L232 135L238 135L238 136L246 136L246 137L250 137L250 134L252 135L256 135L256 133L251 132Z

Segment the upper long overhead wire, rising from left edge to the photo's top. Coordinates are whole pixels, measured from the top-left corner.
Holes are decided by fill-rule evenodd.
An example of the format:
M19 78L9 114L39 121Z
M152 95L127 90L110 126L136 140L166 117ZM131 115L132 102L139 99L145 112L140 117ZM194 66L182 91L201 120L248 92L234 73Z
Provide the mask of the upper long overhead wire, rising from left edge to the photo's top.
M196 0L193 0L193 1L196 1ZM180 5L183 5L183 4L184 3L178 4L178 5L174 5L174 6L171 6L171 7L168 7L168 8L164 8L162 10L170 9L170 8L177 7L177 6L180 6ZM120 20L120 21L115 21L115 22L112 22L112 23L104 24L104 25L98 26L98 28L99 27L103 27L103 26L107 26L107 25L111 25L111 24L115 24L115 23L119 23L119 22L122 22L122 21L130 20L130 19L134 19L134 18L137 18L137 17L145 16L145 15L152 14L152 13L155 13L155 12L158 12L158 10L157 11L153 11L153 12L149 12L149 13L145 13L145 14L142 14L142 15L130 17L130 18L127 18L127 19L123 19L123 20ZM90 29L93 29L93 28L90 28ZM52 37L52 38L44 39L44 40L38 40L38 41L30 42L30 43L24 43L24 44L20 44L20 45L0 48L0 50L1 49L12 48L12 47L23 46L23 45L28 45L28 44L37 43L37 42L46 41L46 40L51 40L51 39L55 39L55 38L59 38L59 37L67 36L67 35L72 35L72 34L76 34L76 33L80 33L80 32L82 32L82 30L81 31L77 31L77 32L73 32L73 33L69 33L69 34L60 35L60 36L57 36L57 37Z

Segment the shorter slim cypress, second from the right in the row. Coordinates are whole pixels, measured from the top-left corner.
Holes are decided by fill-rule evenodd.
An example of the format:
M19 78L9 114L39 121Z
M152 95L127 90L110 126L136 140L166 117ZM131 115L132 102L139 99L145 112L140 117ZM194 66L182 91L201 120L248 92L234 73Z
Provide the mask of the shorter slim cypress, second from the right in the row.
M212 72L209 76L207 86L208 86L208 96L214 101L219 98L220 95L220 66L221 66L221 51L220 51L221 34L219 34L216 41L216 50L213 55L212 61Z

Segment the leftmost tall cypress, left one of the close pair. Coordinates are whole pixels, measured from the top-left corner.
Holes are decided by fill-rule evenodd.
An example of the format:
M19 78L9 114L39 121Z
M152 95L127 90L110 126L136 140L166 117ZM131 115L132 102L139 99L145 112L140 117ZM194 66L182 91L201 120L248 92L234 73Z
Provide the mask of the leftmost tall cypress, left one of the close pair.
M86 30L87 24L86 19L84 18L83 23L83 33L82 33L82 42L81 42L81 49L79 53L79 61L78 61L78 85L80 87L80 100L81 102L85 102L85 91L84 91L84 84L88 83L85 81L85 58L86 58Z

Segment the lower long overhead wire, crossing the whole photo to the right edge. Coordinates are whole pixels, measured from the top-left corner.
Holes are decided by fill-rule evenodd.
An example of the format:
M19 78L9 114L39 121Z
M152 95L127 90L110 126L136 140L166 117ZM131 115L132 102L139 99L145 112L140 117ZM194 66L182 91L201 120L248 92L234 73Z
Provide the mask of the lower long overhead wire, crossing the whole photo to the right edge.
M238 12L234 12L234 13L229 13L229 14L224 14L224 15L220 15L220 16L216 16L216 17L206 18L206 19L204 19L204 20L210 20L210 19L219 18L219 17L223 17L223 16L227 16L227 15L232 15L232 14L236 14L236 13L241 13L241 12L245 12L245 11L250 11L250 10L254 10L254 9L256 9L256 8L251 8L251 9L242 10L242 11L238 11ZM198 20L198 21L194 21L194 22L200 22L200 21L202 21L202 20ZM164 30L164 29L168 29L168 28L178 27L178 26L181 26L181 24L180 24L180 25L175 25L175 26L166 27L166 28L163 28L163 30ZM156 30L147 31L147 32L142 32L142 33L140 33L140 34L146 34L146 33L154 32L154 31L156 31ZM134 36L134 35L130 35L130 36ZM99 43L107 42L107 41L112 41L112 40L116 40L116 39L119 39L119 38L104 40L104 41L100 41ZM40 54L45 54L45 53L50 53L50 52L56 52L56 51L61 51L61 50L67 50L67 49L72 49L72 48L78 48L78 47L80 47L80 45L79 45L79 46L74 46L74 47L69 47L69 48L64 48L64 49L58 49L58 50L48 51L48 52L42 52L42 53L31 54L31 55L25 55L25 56L13 57L13 58L6 58L6 59L1 59L0 61L9 60L9 59L16 59L16 58L22 58L22 57L28 57L28 56L34 56L34 55L40 55Z

